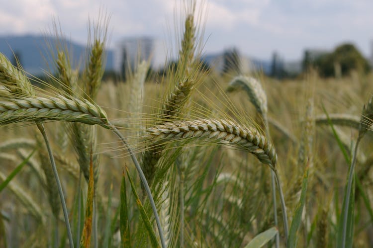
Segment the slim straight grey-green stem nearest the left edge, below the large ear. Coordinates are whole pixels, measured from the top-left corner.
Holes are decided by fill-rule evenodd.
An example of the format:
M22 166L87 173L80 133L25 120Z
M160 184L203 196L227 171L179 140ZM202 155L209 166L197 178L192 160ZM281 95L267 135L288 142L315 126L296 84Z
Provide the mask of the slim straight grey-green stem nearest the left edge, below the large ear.
M58 193L60 194L60 199L61 199L61 204L62 204L62 210L64 212L64 217L65 217L65 224L66 224L67 235L69 237L70 248L74 248L73 236L71 235L71 228L70 228L70 222L69 222L69 214L67 212L65 197L64 197L64 193L62 191L60 177L58 176L56 163L54 162L54 157L53 157L52 149L50 147L50 144L49 144L49 141L48 141L48 137L47 137L47 134L45 132L44 125L42 123L36 123L36 125L39 128L41 134L43 135L44 142L45 142L45 145L46 145L47 150L48 150L48 155L49 155L49 159L51 161L53 174L54 174L54 177L55 177L56 182L57 182Z

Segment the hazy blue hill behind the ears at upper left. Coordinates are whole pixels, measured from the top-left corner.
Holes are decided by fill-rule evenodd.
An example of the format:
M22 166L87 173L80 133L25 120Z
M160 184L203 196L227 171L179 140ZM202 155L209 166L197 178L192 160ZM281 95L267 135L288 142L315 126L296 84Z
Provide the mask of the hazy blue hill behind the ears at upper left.
M54 37L45 37L41 35L9 35L0 36L0 52L3 53L10 61L14 61L13 53L17 55L23 69L32 75L41 75L44 71L54 72L55 65L53 57L56 55L56 45L62 43L69 49L70 60L75 68L81 65L83 68L87 57L86 46L80 45L67 39L57 40ZM48 48L53 47L52 52ZM113 52L106 51L106 70L113 70Z

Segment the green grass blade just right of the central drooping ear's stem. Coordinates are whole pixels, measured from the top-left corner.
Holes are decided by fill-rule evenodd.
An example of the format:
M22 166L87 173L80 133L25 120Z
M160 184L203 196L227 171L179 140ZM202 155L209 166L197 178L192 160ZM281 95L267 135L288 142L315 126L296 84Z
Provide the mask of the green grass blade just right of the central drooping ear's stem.
M302 181L302 191L300 193L300 199L299 202L295 208L294 212L294 217L290 225L290 230L289 230L289 238L288 238L288 245L287 247L289 248L295 248L296 247L296 241L298 237L298 230L300 227L300 222L302 221L302 212L303 212L303 207L304 203L306 200L306 192L307 192L307 184L308 184L308 172L309 172L309 167L308 163L306 166L306 169L303 174L303 181Z

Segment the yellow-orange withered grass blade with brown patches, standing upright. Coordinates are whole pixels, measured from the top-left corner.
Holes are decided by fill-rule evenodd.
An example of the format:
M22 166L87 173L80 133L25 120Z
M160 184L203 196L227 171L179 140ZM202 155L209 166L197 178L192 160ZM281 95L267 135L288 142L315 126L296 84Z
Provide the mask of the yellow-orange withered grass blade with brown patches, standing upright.
M82 237L80 240L80 248L91 247L92 220L93 220L93 195L94 195L92 153L91 153L91 162L90 162L90 179L88 182L87 191L88 192L87 192L86 217L84 218L84 227L83 227Z

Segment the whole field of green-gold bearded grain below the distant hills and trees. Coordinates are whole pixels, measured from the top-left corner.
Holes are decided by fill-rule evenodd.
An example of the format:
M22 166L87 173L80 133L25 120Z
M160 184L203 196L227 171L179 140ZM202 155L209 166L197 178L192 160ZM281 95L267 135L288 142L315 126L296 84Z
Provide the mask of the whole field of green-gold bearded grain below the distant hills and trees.
M0 247L373 246L373 76L204 71L191 9L164 76L0 54Z

